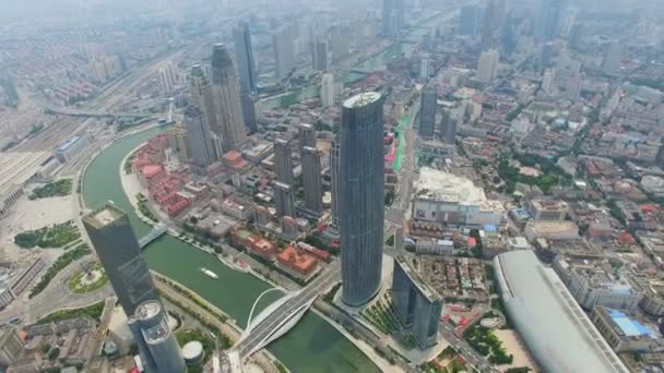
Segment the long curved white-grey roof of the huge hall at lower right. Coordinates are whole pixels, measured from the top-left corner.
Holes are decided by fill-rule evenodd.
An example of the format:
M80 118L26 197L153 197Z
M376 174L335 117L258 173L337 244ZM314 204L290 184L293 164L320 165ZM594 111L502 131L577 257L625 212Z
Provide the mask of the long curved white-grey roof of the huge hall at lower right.
M507 308L533 358L545 372L629 372L554 269L532 251L494 258Z

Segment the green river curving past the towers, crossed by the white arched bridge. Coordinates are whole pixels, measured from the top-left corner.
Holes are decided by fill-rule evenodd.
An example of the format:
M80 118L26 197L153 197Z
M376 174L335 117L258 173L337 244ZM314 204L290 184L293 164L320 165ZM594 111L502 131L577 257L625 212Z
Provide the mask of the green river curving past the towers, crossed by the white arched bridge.
M133 210L120 182L120 163L139 144L163 130L153 129L120 140L92 161L83 178L83 197L90 208L110 200L127 212ZM135 214L130 213L129 217L138 237L150 231L150 226L139 220ZM270 287L168 234L151 243L144 255L152 269L198 292L228 313L238 325L247 323L253 301ZM220 279L203 275L199 270L203 266L215 272ZM276 297L278 294L266 294L262 305ZM379 372L355 345L312 312L308 312L288 334L271 344L269 350L293 372Z

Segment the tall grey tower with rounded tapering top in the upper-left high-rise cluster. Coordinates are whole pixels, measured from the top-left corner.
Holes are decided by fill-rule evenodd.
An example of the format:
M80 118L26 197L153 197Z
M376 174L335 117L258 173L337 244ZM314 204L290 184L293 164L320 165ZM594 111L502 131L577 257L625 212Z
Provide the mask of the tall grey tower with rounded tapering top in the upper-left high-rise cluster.
M212 93L224 151L236 149L245 141L247 133L239 82L230 55L223 44L215 44L212 50Z

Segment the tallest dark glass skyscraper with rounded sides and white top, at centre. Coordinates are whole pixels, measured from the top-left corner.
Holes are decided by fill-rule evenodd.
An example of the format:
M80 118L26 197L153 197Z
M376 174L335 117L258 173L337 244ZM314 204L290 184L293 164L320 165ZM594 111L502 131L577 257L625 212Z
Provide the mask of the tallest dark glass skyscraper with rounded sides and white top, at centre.
M348 98L340 131L342 299L358 306L378 292L384 229L383 103L367 92Z

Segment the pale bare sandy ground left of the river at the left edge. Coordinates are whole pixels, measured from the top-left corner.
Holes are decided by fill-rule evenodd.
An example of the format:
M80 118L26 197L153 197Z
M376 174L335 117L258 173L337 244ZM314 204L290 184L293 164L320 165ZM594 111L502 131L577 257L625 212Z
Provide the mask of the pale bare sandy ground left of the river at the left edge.
M26 249L21 249L14 243L14 236L26 230L66 222L73 218L71 195L31 201L27 197L29 192L25 194L11 207L10 213L2 218L2 224L0 224L0 248L3 251L0 255L11 262L29 255L26 253ZM49 253L49 256L54 254L51 260L60 254L60 250L49 249L44 252Z

